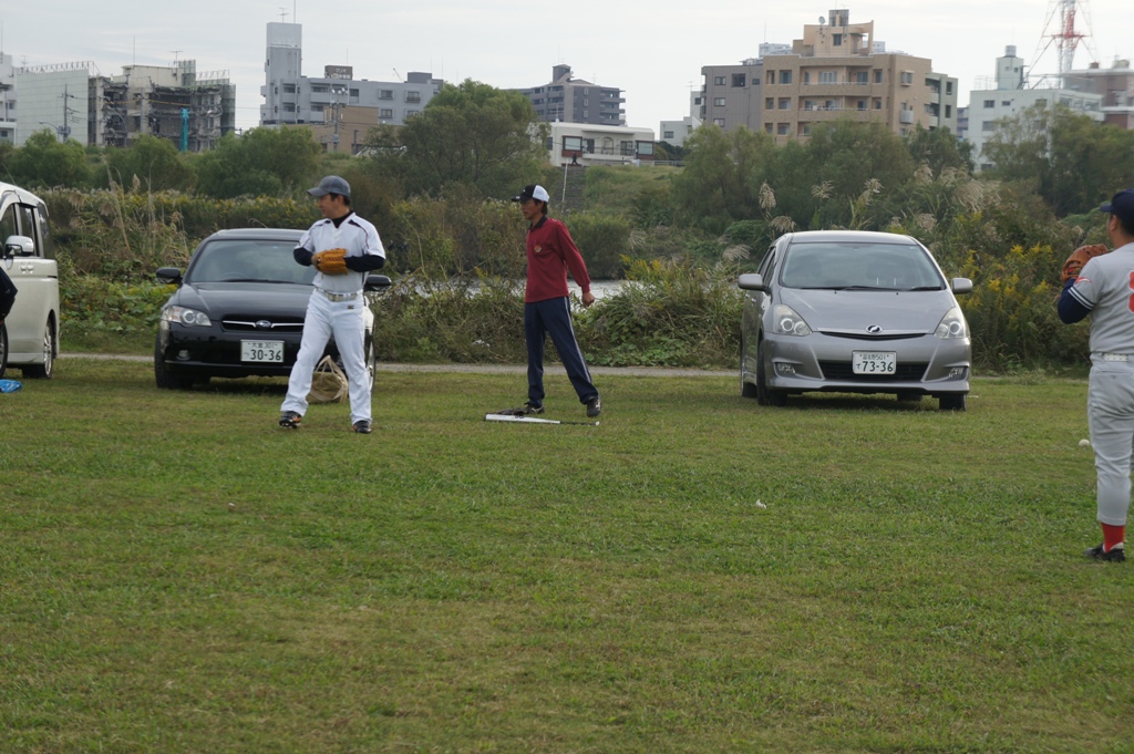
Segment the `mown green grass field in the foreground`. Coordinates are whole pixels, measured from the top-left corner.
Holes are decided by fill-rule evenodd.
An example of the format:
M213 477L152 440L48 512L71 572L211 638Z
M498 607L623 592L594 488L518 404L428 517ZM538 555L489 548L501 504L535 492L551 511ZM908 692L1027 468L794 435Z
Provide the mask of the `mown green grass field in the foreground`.
M1085 383L598 383L383 373L369 437L141 363L0 395L0 751L1134 751Z

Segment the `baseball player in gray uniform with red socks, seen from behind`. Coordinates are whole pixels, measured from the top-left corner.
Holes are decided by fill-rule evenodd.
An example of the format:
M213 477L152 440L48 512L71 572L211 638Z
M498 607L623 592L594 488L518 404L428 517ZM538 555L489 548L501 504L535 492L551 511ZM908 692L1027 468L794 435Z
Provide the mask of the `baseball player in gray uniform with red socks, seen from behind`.
M1083 247L1068 257L1059 319L1069 324L1091 315L1086 415L1102 543L1086 556L1120 562L1126 559L1134 457L1134 189L1115 194L1099 209L1109 214L1107 236L1115 251L1108 254L1105 246ZM1081 268L1076 270L1076 265Z

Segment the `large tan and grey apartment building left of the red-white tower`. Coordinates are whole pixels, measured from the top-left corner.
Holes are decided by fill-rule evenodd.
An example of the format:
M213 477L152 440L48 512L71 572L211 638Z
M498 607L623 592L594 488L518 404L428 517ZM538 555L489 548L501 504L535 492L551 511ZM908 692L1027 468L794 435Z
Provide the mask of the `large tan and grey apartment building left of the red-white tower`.
M874 23L850 24L849 10L805 25L803 39L761 45L758 60L705 66L703 120L730 130L763 128L777 143L806 139L843 118L880 121L895 134L949 127L956 133L956 79L928 58L886 52Z

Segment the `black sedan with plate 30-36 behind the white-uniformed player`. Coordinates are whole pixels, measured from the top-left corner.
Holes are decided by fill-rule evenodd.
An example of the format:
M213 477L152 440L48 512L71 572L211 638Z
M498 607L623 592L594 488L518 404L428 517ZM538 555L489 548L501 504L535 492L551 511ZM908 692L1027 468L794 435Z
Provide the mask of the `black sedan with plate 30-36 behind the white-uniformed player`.
M301 230L221 230L193 252L181 274L161 268L158 280L178 288L161 310L153 371L159 388L187 390L210 378L287 376L299 353L315 269L291 252ZM390 279L370 274L370 296ZM374 313L365 310L366 365L374 384ZM327 354L338 359L333 339Z

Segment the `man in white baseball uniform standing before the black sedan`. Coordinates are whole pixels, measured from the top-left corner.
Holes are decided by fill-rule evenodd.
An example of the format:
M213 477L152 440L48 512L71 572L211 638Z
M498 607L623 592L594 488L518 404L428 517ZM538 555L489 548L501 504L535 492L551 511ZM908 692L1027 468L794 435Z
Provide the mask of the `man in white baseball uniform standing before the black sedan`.
M287 398L280 406L280 426L299 429L307 412L312 374L333 336L347 373L350 426L355 432L370 434L363 282L369 272L386 264L386 249L374 226L350 209L350 185L342 178L327 176L307 193L315 197L323 219L307 229L294 254L296 262L314 265L319 272L303 321L299 355L291 367ZM335 256L341 256L341 262L331 264Z

